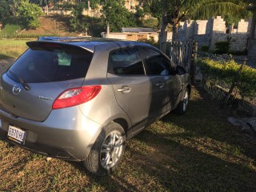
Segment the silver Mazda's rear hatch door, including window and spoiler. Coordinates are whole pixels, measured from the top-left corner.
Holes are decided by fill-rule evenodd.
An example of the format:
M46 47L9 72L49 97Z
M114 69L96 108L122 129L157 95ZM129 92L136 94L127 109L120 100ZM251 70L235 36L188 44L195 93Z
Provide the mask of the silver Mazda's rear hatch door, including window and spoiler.
M30 49L1 76L0 108L44 121L62 91L82 86L93 53L57 42L28 42Z

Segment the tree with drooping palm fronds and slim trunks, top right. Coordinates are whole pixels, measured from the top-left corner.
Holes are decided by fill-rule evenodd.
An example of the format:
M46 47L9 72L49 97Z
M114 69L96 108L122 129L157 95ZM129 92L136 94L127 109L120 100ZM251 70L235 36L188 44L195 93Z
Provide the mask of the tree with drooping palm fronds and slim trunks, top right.
M173 41L176 41L179 22L185 19L206 19L216 15L246 14L247 5L245 1L238 0L148 0L147 3L157 18L162 14L160 44L168 23L173 26Z

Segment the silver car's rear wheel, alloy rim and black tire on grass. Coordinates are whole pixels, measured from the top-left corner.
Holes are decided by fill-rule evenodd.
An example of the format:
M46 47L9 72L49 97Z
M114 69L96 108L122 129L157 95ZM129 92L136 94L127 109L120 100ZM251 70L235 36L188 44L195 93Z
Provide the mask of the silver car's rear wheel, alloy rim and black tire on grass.
M98 135L84 166L93 174L110 174L118 166L126 148L126 134L122 126L110 122Z

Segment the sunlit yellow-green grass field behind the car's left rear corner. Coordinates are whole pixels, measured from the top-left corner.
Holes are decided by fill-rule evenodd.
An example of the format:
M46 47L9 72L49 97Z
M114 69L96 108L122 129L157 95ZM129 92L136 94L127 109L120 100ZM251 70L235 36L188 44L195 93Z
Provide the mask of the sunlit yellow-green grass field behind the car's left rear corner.
M31 40L0 40L0 59L18 58L28 48L26 42Z

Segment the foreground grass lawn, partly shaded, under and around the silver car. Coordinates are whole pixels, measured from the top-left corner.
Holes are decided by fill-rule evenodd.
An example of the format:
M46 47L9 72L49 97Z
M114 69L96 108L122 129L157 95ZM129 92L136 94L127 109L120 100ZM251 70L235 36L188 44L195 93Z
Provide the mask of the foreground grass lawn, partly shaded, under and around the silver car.
M168 114L128 141L104 178L0 140L0 191L256 191L256 140L229 115L194 88L187 113Z

